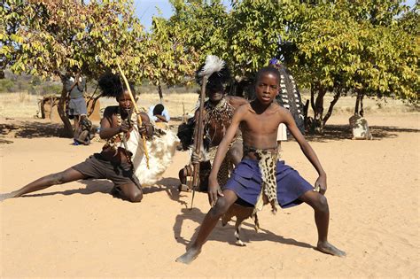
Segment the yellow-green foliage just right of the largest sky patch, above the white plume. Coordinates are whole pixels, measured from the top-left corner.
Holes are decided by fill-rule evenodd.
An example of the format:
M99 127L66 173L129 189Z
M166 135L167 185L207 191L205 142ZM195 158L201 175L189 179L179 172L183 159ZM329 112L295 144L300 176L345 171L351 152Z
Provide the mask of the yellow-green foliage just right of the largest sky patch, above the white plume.
M222 53L225 7L220 1L173 0L175 13L170 19L155 17L147 41L148 63L145 71L152 83L194 83L194 75L206 54Z

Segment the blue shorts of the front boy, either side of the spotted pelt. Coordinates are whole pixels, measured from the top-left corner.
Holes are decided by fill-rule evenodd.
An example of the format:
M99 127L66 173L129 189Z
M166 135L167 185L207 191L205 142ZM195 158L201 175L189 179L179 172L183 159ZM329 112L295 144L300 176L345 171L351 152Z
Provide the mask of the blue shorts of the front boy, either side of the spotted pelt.
M277 161L276 166L277 201L282 208L302 203L298 198L308 190L314 190L311 184L303 179L292 167ZM243 159L230 175L223 190L232 190L238 198L255 205L261 193L261 171L258 160Z

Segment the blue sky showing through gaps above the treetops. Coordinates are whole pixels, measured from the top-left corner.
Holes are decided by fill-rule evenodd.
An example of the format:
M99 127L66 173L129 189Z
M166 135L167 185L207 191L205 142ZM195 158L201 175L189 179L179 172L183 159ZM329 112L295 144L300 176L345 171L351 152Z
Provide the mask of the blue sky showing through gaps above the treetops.
M226 4L229 4L228 0L223 1ZM416 0L407 0L406 4L413 6L416 3ZM136 15L141 20L142 24L147 30L150 30L152 26L152 16L159 15L159 12L156 7L159 8L161 16L164 18L169 18L173 14L172 5L169 4L168 0L134 0L134 5L136 7Z

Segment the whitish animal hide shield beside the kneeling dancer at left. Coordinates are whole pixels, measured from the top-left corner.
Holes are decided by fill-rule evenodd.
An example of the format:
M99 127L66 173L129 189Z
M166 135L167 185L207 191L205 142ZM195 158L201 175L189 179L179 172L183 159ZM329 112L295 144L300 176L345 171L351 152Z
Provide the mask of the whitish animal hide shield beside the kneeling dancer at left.
M132 161L136 177L143 187L152 186L159 181L172 163L176 146L180 141L170 129L155 128L152 140L146 141L147 151L149 151L150 169L148 169L144 159L142 138L138 132L133 132L128 139L128 150L133 153Z

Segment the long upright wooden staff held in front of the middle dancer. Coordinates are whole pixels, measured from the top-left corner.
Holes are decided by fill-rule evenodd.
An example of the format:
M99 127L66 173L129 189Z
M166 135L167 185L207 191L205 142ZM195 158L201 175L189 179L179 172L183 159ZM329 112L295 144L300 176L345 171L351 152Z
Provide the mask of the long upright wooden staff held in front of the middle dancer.
M196 122L196 136L195 136L195 152L198 152L198 158L200 157L201 153L201 143L203 142L203 133L204 133L204 125L203 125L203 114L204 114L204 100L206 98L206 83L207 83L207 76L203 76L203 82L201 83L201 94L199 97L199 110L198 110L198 122ZM193 165L194 170L192 172L192 198L191 198L191 209L192 204L194 202L194 194L195 190L198 187L198 174L199 174L199 162Z

